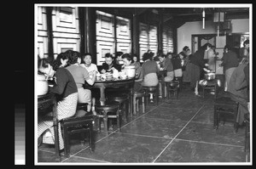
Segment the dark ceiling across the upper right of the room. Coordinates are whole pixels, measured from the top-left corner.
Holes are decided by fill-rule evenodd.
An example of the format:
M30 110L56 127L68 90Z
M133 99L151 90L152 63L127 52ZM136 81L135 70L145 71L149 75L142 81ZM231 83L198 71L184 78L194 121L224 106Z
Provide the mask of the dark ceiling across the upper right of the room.
M223 12L225 20L249 19L249 8L102 8L110 13L126 16L139 16L143 20L172 22L178 26L185 22L201 21L202 11L205 10L205 20L213 20L216 12Z

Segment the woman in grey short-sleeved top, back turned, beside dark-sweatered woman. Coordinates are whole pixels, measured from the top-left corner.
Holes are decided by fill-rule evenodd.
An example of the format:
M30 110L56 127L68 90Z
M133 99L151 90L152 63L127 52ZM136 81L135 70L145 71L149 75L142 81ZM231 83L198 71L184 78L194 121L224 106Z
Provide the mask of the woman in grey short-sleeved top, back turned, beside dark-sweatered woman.
M87 111L91 110L91 92L90 89L86 89L83 87L84 83L87 82L90 86L94 84L96 81L96 71L92 73L92 78L90 78L89 72L80 66L81 56L79 52L68 50L67 52L69 66L67 66L67 70L72 74L79 92L79 103L87 104Z

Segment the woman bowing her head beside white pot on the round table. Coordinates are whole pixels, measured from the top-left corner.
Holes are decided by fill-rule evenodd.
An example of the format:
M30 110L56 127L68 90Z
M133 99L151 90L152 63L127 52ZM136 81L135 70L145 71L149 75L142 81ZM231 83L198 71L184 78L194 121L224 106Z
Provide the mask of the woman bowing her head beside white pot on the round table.
M136 74L135 74L135 81L134 81L133 89L134 89L135 92L141 91L143 89L143 86L142 86L143 73L142 73L141 65L140 64L138 65L137 62L134 62L131 59L131 54L124 54L123 55L123 61L125 63L125 66L128 66L128 65L134 65L135 66Z

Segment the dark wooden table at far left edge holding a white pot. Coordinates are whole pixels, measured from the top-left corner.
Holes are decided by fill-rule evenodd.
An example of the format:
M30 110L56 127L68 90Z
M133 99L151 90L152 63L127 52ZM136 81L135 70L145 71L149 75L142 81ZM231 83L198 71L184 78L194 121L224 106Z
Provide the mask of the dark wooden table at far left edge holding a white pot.
M55 93L46 93L38 96L38 116L46 115L52 112L52 121L55 132L55 155L58 161L61 161L60 148L59 148L59 131L58 131L58 119L56 110Z

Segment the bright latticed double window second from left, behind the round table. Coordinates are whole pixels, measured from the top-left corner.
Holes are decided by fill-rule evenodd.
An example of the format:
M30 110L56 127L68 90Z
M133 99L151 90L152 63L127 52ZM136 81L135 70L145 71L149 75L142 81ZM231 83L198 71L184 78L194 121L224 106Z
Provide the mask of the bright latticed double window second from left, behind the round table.
M117 51L131 53L131 21L97 10L96 65L102 65L105 61L105 54L114 54Z

